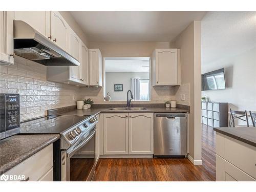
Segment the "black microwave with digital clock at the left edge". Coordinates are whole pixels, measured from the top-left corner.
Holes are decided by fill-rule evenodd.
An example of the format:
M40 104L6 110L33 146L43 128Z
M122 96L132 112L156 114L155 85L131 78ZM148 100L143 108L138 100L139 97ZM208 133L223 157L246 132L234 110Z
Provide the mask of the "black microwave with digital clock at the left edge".
M0 140L19 133L19 94L0 94Z

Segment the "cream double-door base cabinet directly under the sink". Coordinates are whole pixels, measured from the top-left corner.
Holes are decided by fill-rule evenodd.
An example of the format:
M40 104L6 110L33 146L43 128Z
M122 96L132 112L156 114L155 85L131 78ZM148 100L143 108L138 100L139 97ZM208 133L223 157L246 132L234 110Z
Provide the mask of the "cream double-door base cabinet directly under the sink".
M104 113L103 154L153 154L153 134L153 113Z

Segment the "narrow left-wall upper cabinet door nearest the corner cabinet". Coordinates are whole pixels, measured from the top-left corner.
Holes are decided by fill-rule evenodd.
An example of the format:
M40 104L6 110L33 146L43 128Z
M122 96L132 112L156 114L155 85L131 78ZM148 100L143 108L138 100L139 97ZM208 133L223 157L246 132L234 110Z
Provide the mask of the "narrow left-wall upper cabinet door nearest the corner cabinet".
M81 42L81 56L80 56L80 78L81 83L89 86L89 49Z

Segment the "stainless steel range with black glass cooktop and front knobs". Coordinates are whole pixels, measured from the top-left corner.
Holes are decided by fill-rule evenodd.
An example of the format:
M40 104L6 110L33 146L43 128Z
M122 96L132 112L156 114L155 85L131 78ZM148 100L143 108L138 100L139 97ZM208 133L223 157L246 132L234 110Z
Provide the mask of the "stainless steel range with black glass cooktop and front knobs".
M60 134L60 180L90 181L95 172L95 132L98 118L95 115L50 115L28 120L20 124L21 134ZM75 157L78 151L87 147L87 153L81 158ZM57 151L57 150L55 150ZM58 161L58 160L55 160ZM78 173L78 161L83 161L81 177L72 176ZM58 171L58 168L56 168ZM57 174L58 175L58 174ZM74 174L73 174L74 175Z

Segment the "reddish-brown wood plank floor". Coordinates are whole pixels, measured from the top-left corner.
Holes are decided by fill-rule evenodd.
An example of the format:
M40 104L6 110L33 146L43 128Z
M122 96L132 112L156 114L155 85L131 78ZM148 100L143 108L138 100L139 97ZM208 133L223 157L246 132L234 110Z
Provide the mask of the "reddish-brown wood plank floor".
M185 158L99 159L95 181L215 181L215 132L202 125L203 165Z

